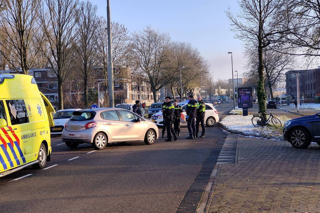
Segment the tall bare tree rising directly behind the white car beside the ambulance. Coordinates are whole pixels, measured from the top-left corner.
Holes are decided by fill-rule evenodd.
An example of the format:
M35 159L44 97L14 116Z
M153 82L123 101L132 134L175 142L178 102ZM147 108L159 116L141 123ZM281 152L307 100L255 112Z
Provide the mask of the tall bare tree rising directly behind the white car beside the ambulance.
M39 10L42 30L46 35L42 53L57 76L59 109L63 109L63 83L72 69L71 61L75 56L77 3L77 0L45 0Z

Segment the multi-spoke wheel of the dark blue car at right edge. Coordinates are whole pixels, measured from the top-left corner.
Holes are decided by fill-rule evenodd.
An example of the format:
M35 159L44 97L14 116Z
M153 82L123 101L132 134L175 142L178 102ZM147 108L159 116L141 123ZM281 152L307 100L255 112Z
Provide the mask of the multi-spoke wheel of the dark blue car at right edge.
M310 145L311 137L306 129L297 127L291 130L289 142L294 148L305 149Z

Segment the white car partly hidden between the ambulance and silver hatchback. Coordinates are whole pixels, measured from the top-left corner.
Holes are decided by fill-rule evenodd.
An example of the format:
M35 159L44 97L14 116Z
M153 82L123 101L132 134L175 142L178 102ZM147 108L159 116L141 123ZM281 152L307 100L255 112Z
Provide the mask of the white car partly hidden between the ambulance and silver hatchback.
M61 135L66 122L69 121L69 119L73 115L73 112L78 110L81 109L61 109L53 114L54 127L50 128L50 134L52 136Z

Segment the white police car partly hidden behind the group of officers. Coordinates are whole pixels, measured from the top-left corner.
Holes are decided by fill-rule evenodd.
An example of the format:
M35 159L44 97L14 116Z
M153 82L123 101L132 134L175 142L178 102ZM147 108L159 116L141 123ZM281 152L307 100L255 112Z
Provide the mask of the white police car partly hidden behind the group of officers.
M187 126L186 110L187 110L188 103L179 103L178 105L180 105L183 109L183 112L181 113L181 118L180 118L180 120L181 120L180 126ZM156 114L153 114L151 116L151 121L156 123L156 125L158 125L158 126L163 126L162 112L158 112ZM216 122L219 122L218 111L210 103L205 103L204 121L205 121L207 127L212 127Z

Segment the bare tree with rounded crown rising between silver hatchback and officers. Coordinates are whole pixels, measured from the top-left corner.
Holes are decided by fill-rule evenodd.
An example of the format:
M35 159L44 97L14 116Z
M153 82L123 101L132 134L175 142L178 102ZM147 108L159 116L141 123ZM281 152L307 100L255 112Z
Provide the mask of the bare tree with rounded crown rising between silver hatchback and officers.
M145 77L150 84L154 101L157 101L156 92L167 84L173 76L165 66L168 58L170 37L151 28L145 27L142 31L132 33L131 51L134 58L135 70Z

